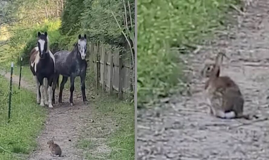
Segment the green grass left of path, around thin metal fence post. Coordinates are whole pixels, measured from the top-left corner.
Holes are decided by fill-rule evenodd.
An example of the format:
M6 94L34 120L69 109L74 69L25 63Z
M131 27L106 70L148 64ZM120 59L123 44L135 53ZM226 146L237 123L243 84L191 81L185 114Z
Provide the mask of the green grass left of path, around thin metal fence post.
M9 81L0 77L0 159L19 159L29 154L37 145L36 136L41 131L47 110L36 104L35 95L18 85L12 85L11 119L8 123Z

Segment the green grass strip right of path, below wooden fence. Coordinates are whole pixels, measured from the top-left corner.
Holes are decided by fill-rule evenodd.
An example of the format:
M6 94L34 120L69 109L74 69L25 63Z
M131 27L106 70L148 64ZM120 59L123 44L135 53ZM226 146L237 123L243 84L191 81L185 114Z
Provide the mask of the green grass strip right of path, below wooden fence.
M109 159L134 159L134 104L117 100L117 98L100 98L98 110L115 118L119 126L109 137L112 149Z

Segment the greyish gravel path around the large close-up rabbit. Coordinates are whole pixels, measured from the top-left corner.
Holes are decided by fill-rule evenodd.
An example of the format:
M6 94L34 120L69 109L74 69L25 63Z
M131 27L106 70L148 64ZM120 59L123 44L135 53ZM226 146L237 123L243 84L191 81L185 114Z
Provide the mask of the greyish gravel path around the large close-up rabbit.
M219 37L188 60L191 96L177 95L162 108L138 111L138 159L269 159L269 122L222 120L209 116L199 69L212 51L225 49L222 75L230 76L245 98L245 113L269 116L269 1L257 0L241 26ZM225 44L225 45L224 45ZM250 123L242 125L243 123Z

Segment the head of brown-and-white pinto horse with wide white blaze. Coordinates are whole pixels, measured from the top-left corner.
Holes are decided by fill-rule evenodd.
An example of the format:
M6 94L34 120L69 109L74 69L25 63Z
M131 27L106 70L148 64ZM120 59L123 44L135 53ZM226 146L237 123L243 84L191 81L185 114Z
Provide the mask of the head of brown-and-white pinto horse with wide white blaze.
M38 50L39 50L39 56L41 59L46 57L47 53L49 53L47 36L48 36L47 32L45 32L44 34L41 34L40 32L38 32L37 45L38 45Z

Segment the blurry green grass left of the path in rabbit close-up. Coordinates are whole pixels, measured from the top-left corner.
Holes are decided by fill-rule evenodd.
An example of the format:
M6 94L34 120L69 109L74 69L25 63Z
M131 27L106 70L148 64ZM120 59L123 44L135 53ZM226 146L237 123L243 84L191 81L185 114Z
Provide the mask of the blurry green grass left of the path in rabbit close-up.
M223 24L234 0L138 1L138 104L169 94L180 77L179 52Z

